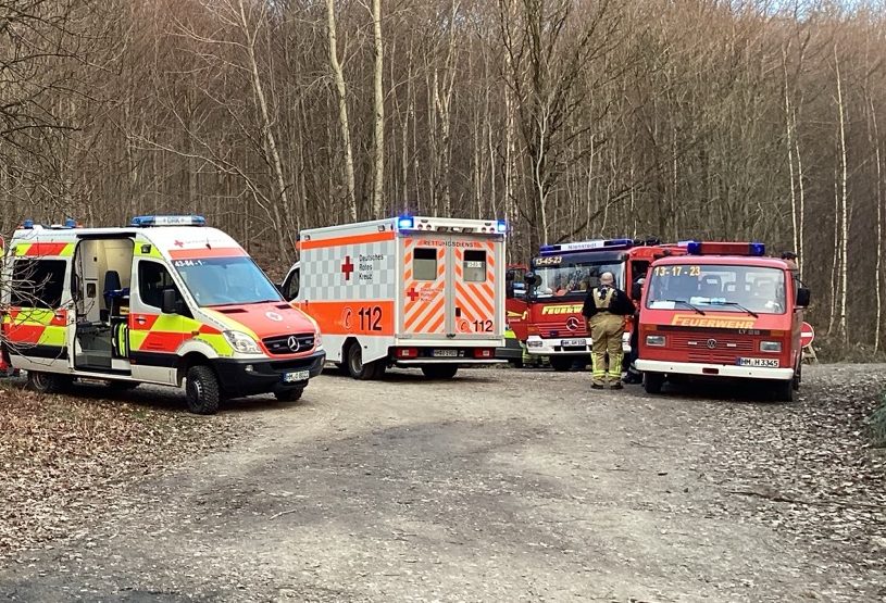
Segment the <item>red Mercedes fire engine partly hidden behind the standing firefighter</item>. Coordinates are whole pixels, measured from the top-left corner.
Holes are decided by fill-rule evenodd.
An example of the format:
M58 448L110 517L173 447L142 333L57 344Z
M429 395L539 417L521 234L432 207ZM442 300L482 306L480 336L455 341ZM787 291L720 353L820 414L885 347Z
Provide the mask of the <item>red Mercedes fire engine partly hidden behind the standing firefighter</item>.
M569 370L577 361L590 360L590 334L582 306L588 289L610 272L615 286L632 294L632 285L645 276L658 257L683 255L686 247L658 240L591 240L541 246L526 275L526 349L548 356L554 370ZM635 300L635 301L638 301ZM626 321L623 349L631 351L633 322Z

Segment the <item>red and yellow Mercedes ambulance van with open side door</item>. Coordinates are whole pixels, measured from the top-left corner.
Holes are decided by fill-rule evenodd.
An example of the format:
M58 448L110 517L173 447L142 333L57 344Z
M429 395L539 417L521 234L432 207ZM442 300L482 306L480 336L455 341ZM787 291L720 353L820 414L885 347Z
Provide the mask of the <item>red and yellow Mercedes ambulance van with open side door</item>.
M296 400L325 361L316 324L201 216L26 221L2 280L3 353L38 391L184 381L190 411L208 414L228 397Z

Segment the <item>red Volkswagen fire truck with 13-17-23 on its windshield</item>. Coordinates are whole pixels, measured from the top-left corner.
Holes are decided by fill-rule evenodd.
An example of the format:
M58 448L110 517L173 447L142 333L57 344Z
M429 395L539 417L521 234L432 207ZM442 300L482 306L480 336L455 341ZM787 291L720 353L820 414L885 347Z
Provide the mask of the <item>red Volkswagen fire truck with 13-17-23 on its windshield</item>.
M760 379L793 400L809 289L762 243L690 242L687 251L649 271L637 361L646 391L679 376Z

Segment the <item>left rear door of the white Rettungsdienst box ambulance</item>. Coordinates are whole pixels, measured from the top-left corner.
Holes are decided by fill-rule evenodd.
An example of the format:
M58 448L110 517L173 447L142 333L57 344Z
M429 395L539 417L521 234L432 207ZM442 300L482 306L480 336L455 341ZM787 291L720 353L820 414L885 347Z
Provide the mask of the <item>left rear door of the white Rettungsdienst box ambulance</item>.
M408 236L402 239L403 291L398 332L410 339L439 339L447 332L446 235Z

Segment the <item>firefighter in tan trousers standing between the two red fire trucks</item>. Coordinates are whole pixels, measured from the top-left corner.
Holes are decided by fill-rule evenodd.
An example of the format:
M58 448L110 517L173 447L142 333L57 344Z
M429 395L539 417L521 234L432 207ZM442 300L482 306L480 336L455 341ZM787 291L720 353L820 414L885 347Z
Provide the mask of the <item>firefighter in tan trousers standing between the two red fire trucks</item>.
M622 389L622 335L625 316L635 312L634 302L615 287L612 273L600 275L600 285L588 291L582 310L588 322L592 340L590 387L603 389L607 381L606 356L609 355L609 384L612 389Z

